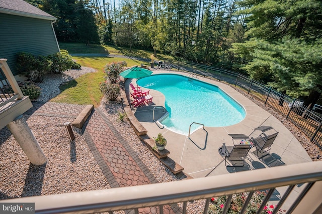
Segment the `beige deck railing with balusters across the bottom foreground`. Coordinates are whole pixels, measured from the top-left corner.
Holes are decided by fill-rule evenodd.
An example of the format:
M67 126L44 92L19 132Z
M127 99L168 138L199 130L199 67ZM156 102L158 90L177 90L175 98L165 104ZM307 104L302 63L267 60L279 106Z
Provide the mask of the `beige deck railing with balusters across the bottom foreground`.
M207 213L211 197L228 195L229 199L229 195L234 193L263 189L270 189L269 192L273 192L276 187L288 186L286 192L281 195L277 207L281 207L287 199L290 205L286 213L320 213L317 209L322 202L321 180L322 161L315 161L205 178L15 198L1 202L35 202L36 213L94 213L102 211L113 213L114 210L131 209L138 213L140 207L157 206L160 208L159 210L163 210L164 204L184 202L181 206L186 207L186 201L206 199L205 207L202 207L203 210L200 213ZM297 184L301 186L298 194L288 194ZM257 208L264 207L267 201L268 198L264 199L263 206ZM247 200L245 204L248 205ZM225 207L221 213L225 213ZM163 213L163 211L159 213ZM189 212L183 208L182 213ZM240 210L240 213L243 213L243 210ZM261 213L261 210L258 210L258 213Z

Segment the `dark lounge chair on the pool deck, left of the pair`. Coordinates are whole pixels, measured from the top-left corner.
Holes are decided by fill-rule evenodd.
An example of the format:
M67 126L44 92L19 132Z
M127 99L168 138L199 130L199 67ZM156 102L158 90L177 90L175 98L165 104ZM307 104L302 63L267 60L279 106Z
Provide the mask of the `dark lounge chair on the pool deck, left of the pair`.
M226 146L225 143L218 149L221 156L225 157L225 165L227 167L241 166L245 165L245 157L247 156L249 150L253 145L249 144L238 144L234 146ZM227 165L227 160L231 165ZM243 161L241 165L241 161ZM240 165L239 165L240 164Z

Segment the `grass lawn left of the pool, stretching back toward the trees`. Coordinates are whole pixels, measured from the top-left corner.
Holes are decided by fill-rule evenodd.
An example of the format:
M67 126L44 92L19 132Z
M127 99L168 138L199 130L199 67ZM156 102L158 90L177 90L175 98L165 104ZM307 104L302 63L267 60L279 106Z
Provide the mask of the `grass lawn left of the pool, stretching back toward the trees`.
M132 56L138 58L150 59L153 54L151 51L121 48L117 46L90 45L81 43L59 43L60 49L67 50L72 54L110 54L120 56ZM91 67L97 70L95 73L89 73L79 77L76 80L69 81L60 87L61 93L51 99L52 102L72 103L72 104L93 104L98 107L101 103L103 94L100 91L100 82L105 81L102 68L111 62L126 61L127 66L149 64L139 60L131 60L121 57L72 57L77 63L85 67ZM174 58L157 54L158 60L174 60Z

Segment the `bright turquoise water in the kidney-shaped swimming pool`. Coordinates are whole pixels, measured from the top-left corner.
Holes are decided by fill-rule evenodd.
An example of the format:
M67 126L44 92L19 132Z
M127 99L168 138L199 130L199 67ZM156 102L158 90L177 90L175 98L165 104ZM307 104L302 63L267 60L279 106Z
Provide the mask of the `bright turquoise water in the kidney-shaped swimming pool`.
M137 85L157 90L166 97L168 129L187 135L193 122L208 127L230 126L246 116L245 109L219 87L176 74L157 74L137 80ZM192 125L191 131L200 125Z

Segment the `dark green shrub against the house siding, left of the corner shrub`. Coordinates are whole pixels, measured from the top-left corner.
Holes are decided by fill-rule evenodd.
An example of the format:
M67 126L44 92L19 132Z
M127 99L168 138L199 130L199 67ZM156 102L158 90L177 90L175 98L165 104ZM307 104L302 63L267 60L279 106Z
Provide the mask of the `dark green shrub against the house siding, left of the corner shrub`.
M30 53L18 53L17 70L33 82L43 82L51 62L43 56L35 57Z

